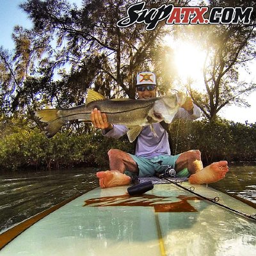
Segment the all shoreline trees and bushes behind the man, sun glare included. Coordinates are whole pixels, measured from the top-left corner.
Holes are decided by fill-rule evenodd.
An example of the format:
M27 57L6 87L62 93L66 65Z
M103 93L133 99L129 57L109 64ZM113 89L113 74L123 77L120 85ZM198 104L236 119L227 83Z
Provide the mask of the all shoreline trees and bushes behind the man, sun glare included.
M14 49L0 45L0 168L106 166L110 148L133 152L126 137L109 140L83 122L69 123L49 140L34 112L80 106L88 88L107 99L135 99L136 74L142 70L154 70L159 77L159 95L182 90L205 118L172 124L173 154L198 148L205 164L256 159L256 123L218 118L226 106L249 107L248 96L256 90L250 74L256 8L250 24L241 20L228 26L165 26L160 22L148 31L143 22L116 26L132 1L88 0L81 6L67 0L20 2L32 26L13 28ZM148 10L156 8L156 1L147 2ZM179 4L189 6L189 2ZM236 2L209 1L207 6L233 8ZM165 3L157 1L159 6ZM255 4L239 1L239 8Z

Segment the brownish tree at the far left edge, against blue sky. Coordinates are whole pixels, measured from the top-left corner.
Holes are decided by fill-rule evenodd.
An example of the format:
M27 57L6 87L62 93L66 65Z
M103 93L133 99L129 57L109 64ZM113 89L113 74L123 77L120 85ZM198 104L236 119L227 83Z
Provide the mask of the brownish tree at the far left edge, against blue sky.
M12 55L1 47L0 67L1 93L5 113L12 113L19 109L20 112L32 112L35 103L35 84L31 86L29 79L36 76L36 60L44 54L44 47L32 44L30 31L16 26L13 31L15 51Z

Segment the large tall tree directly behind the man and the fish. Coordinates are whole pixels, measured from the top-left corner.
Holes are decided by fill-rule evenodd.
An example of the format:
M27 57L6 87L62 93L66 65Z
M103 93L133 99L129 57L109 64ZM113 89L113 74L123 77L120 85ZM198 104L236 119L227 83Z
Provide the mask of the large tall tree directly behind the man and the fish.
M162 2L147 1L147 8L158 8ZM173 1L178 2L189 1ZM33 21L33 42L47 44L40 70L48 77L61 77L57 102L81 104L90 86L108 97L135 97L136 73L154 66L155 49L170 26L162 22L154 31L147 31L144 24L118 28L116 22L132 3L90 0L80 9L65 0L29 0L21 5Z

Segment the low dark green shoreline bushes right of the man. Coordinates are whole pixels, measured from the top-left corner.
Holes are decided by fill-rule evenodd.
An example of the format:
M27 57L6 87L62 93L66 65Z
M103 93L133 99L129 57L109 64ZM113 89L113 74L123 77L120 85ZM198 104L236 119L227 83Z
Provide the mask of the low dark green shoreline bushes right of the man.
M255 161L256 124L241 124L217 119L174 122L170 128L173 148L177 154L199 149L202 159L213 161ZM174 153L174 152L173 152Z

